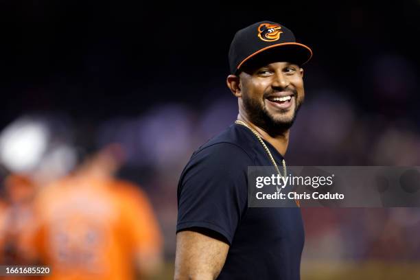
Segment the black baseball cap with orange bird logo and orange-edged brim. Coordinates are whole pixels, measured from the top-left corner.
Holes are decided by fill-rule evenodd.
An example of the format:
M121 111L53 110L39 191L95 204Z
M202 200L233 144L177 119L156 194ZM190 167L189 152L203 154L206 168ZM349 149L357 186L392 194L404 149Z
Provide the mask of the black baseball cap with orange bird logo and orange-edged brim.
M310 47L296 43L287 27L272 21L260 21L236 32L229 49L231 73L261 61L287 61L304 65L312 58Z

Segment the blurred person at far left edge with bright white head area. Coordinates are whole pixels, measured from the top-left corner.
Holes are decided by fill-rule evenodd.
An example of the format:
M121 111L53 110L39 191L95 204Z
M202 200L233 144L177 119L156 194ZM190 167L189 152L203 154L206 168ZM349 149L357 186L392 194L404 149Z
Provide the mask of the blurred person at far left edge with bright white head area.
M36 264L28 255L37 226L34 198L45 184L67 174L73 167L71 149L63 139L69 141L67 125L54 114L25 115L1 131L0 163L4 178L1 182L0 264ZM18 279L8 277L15 278Z

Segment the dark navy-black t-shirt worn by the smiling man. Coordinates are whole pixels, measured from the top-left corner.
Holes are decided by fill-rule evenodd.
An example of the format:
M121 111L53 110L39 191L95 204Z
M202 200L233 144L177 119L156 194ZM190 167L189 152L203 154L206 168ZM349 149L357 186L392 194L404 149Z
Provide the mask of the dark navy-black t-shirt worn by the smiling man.
M266 142L277 165L283 157ZM208 229L230 248L218 279L300 279L299 207L249 207L248 166L272 166L257 137L232 124L191 156L178 184L176 232Z

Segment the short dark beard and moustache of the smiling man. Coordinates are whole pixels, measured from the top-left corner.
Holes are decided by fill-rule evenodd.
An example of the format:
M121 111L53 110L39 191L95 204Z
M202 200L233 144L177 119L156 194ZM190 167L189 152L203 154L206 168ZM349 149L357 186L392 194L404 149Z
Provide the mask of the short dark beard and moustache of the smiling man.
M296 90L288 90L294 94L294 112L292 117L284 118L282 116L276 117L272 113L270 113L266 108L266 103L264 102L266 98L275 91L269 91L265 92L263 95L262 102L257 99L251 98L249 95L245 94L242 95L242 100L244 103L244 108L246 110L246 113L248 114L249 120L255 124L256 126L259 126L260 128L263 128L268 132L269 135L277 135L279 133L283 133L286 130L289 130L294 120L296 119L296 115L301 108L301 105L303 104L303 97L299 99L300 96L298 96L298 93ZM293 98L293 97L292 97ZM288 110L281 110L282 113L287 113Z

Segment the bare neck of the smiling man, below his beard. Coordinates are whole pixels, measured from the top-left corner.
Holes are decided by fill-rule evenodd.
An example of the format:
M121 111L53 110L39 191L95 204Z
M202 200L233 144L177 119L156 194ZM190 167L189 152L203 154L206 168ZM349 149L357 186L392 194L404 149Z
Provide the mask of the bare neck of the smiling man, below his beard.
M285 155L286 150L288 150L290 130L269 133L266 129L253 124L252 121L241 113L237 115L237 119L244 121L244 123L250 126L250 128L257 131L262 139L268 141L268 143L270 143L277 152L279 152L282 156Z

